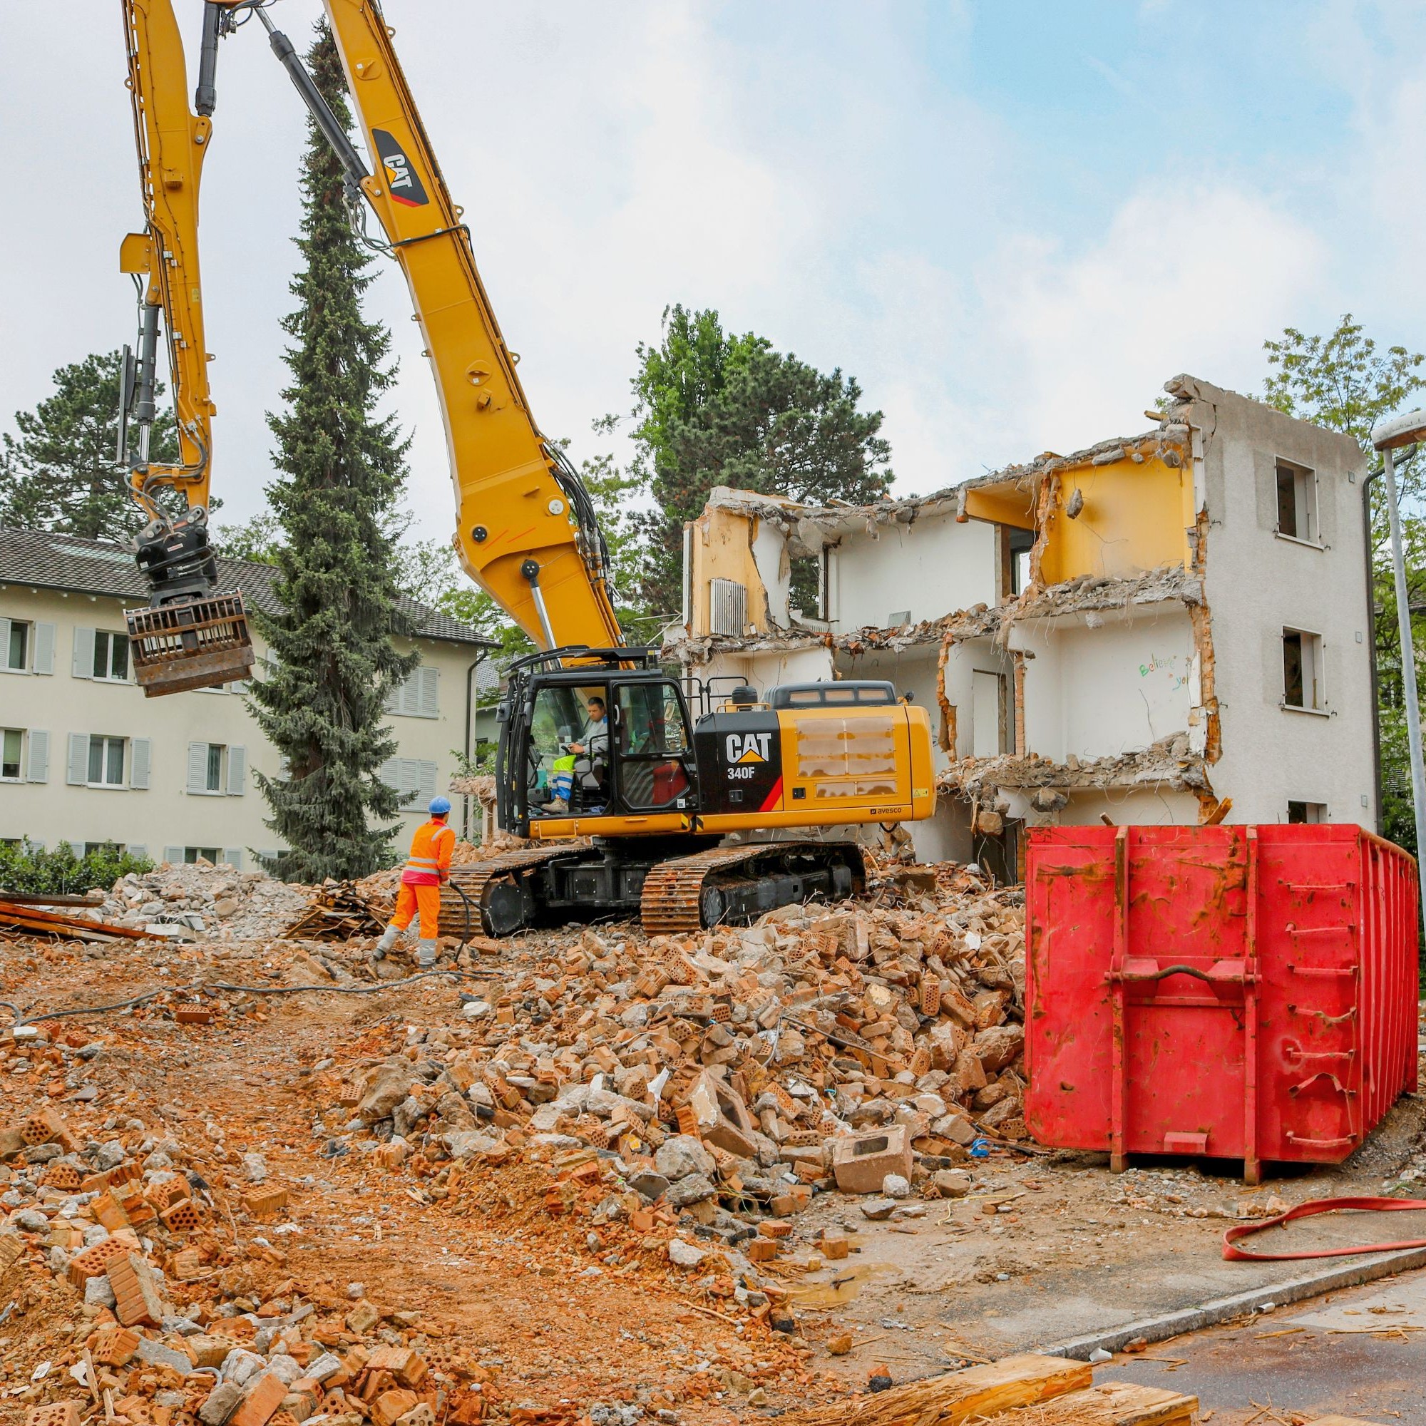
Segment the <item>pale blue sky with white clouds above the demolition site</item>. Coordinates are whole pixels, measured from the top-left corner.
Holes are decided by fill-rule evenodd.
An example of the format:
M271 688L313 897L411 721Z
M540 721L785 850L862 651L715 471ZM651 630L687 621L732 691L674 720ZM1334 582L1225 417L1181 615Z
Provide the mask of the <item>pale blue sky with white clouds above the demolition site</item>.
M201 0L174 0L197 66ZM305 48L319 0L270 14ZM610 448L635 348L716 308L884 412L896 493L1142 429L1188 371L1258 394L1266 337L1353 312L1426 348L1426 3L386 0L540 426ZM0 6L0 425L133 341L141 227L120 7ZM222 46L202 190L221 520L264 508L304 113L254 23ZM415 532L452 528L405 284ZM627 428L627 422L625 422Z

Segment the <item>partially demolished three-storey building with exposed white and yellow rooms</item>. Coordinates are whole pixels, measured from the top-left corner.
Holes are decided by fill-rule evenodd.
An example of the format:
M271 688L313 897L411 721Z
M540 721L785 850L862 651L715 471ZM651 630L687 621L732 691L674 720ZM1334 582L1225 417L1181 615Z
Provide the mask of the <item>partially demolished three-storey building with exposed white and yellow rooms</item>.
M667 653L714 694L888 679L933 709L923 858L1025 824L1376 824L1366 459L1176 376L1154 429L937 495L713 492Z

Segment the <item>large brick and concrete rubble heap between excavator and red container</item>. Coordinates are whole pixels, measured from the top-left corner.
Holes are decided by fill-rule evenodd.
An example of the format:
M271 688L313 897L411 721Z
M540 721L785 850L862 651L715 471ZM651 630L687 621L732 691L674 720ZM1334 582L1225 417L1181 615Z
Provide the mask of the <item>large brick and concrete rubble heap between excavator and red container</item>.
M389 1169L528 1148L605 1185L606 1219L724 1245L817 1191L886 1198L868 1216L965 1192L957 1164L1025 1137L1022 894L945 866L896 868L881 897L546 938L463 997L463 1025L345 1065L328 1122Z

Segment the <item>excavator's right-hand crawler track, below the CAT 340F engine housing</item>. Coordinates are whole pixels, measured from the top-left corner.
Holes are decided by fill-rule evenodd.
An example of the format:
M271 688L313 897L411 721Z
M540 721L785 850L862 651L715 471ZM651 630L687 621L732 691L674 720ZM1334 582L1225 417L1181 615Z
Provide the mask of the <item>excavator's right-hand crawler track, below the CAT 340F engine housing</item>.
M866 888L866 863L861 848L854 841L774 841L713 847L689 857L660 861L649 873L643 883L639 908L643 928L650 935L667 935L717 924L723 917L716 914L716 906L709 904L709 893L716 893L719 883L749 886L764 878L786 880L787 868L799 860L820 863L823 867L843 863L850 871L848 891ZM787 898L771 900L770 906L761 910L787 904L790 904ZM710 910L714 911L713 915L709 915Z

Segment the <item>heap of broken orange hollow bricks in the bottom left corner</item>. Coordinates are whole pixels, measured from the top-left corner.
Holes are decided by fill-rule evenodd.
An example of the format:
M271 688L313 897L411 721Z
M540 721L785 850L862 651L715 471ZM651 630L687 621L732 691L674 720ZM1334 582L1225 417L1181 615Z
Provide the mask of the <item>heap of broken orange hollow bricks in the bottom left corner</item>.
M471 1426L489 1410L488 1375L428 1340L421 1313L288 1275L274 1241L299 1231L284 1219L301 1185L260 1154L41 1108L0 1128L0 1296L36 1315L48 1353L31 1369L0 1338L0 1383L34 1423Z

